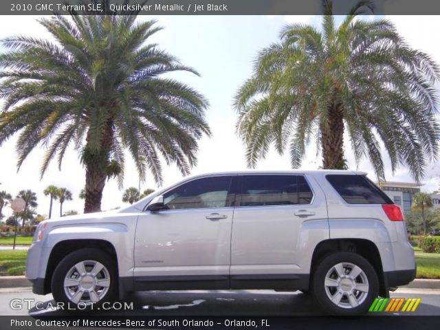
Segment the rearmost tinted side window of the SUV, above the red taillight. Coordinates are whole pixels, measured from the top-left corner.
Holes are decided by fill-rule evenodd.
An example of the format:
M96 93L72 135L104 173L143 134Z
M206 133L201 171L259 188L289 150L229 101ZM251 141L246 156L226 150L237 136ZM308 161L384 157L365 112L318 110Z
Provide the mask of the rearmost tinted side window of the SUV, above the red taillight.
M364 175L326 175L331 186L350 204L392 204L393 201Z

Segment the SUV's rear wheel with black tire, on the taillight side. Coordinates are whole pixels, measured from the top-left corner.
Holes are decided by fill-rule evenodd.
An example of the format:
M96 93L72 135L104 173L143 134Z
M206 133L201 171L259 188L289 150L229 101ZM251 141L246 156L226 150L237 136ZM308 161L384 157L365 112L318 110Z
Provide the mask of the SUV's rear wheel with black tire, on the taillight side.
M353 265L362 270L358 276L355 276L358 268ZM349 278L352 272L354 281ZM325 285L326 277L331 285ZM379 280L373 266L364 257L351 252L337 252L318 261L312 278L311 293L328 314L362 315L369 310L379 294ZM333 303L331 298L338 304Z

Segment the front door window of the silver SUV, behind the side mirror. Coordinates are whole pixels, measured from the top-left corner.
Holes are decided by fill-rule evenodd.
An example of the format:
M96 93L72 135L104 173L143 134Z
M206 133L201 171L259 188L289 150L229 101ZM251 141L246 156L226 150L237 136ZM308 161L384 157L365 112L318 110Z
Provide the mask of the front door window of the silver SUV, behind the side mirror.
M228 195L228 190L231 179L232 177L205 177L182 184L164 194L165 209L230 206L232 197Z

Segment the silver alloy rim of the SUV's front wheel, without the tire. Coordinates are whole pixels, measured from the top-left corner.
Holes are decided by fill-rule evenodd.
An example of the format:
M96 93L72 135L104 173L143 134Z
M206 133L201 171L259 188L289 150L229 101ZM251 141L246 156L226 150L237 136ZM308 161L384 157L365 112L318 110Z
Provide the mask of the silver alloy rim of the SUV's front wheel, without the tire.
M72 303L98 303L110 286L110 273L98 261L80 261L64 279L64 292Z

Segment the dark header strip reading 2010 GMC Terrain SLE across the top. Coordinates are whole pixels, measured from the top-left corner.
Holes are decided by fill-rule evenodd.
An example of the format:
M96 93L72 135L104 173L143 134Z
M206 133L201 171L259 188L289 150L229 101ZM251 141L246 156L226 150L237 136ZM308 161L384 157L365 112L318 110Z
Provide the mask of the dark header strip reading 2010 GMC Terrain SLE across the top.
M1 15L316 15L321 0L1 0ZM347 14L358 0L333 0L333 14ZM371 0L376 15L440 15L437 0Z

